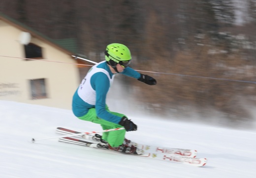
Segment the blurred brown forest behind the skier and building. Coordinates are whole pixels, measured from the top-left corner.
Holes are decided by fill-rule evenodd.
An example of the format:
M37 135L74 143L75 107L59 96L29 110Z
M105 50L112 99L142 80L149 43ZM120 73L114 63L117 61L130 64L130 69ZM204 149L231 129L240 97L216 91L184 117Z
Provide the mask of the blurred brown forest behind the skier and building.
M156 86L121 80L149 112L204 122L218 114L232 127L255 119L256 0L0 0L0 11L76 39L77 53L96 62L106 45L127 45L132 68L156 72L144 72Z

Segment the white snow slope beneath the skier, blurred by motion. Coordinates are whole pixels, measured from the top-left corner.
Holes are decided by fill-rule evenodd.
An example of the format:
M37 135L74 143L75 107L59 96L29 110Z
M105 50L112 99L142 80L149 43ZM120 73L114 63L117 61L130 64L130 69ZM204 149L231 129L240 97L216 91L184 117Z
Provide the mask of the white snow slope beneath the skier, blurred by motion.
M59 136L56 127L101 130L70 110L0 101L0 178L256 178L256 131L131 118L132 141L190 148L208 158L202 168L113 151L31 139Z

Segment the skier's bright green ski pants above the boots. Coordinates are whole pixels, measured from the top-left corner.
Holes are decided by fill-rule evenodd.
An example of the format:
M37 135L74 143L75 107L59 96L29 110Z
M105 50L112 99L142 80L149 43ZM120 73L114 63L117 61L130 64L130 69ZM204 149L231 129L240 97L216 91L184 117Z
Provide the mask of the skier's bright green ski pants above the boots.
M110 112L111 114L119 116L119 117L125 116L124 114L120 114L120 113L117 113L117 112L110 111L107 106L106 106L106 110L108 112ZM86 115L78 117L78 118L81 119L81 120L84 120L84 121L90 121L90 122L93 122L93 123L96 123L96 124L100 124L100 126L102 127L103 130L123 127L119 124L115 124L115 123L106 121L104 119L98 118L97 115L96 115L96 109L95 108L89 109L89 111ZM123 141L125 139L125 134L126 134L125 129L103 132L102 133L102 139L107 141L108 144L111 147L119 147L120 145L123 144Z

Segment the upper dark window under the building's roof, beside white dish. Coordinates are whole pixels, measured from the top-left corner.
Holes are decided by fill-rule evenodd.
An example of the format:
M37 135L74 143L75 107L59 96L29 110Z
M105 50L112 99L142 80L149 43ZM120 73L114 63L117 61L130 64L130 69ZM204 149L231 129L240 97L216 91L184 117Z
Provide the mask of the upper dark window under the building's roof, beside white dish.
M31 59L42 59L42 48L30 43L28 45L24 45L24 49L25 49L25 55L26 58L31 58Z

